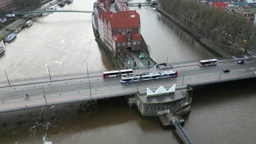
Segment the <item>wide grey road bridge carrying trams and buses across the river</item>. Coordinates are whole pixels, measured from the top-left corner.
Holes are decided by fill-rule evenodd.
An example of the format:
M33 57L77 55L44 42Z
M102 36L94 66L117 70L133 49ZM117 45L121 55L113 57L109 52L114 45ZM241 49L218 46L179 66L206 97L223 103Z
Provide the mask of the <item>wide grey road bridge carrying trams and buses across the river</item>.
M0 81L0 113L29 108L52 105L65 102L82 101L145 93L146 88L152 90L159 86L176 88L187 84L198 86L239 79L256 78L252 71L256 69L254 58L246 59L243 64L237 64L236 59L219 59L216 66L198 66L198 61L173 63L173 69L178 71L176 78L153 79L130 83L120 83L120 77L103 78L101 72L77 73L70 75L51 75L9 79ZM230 72L222 72L223 68ZM166 69L164 69L166 70ZM159 72L158 68L134 69L135 74L145 71ZM28 98L24 99L25 94Z

